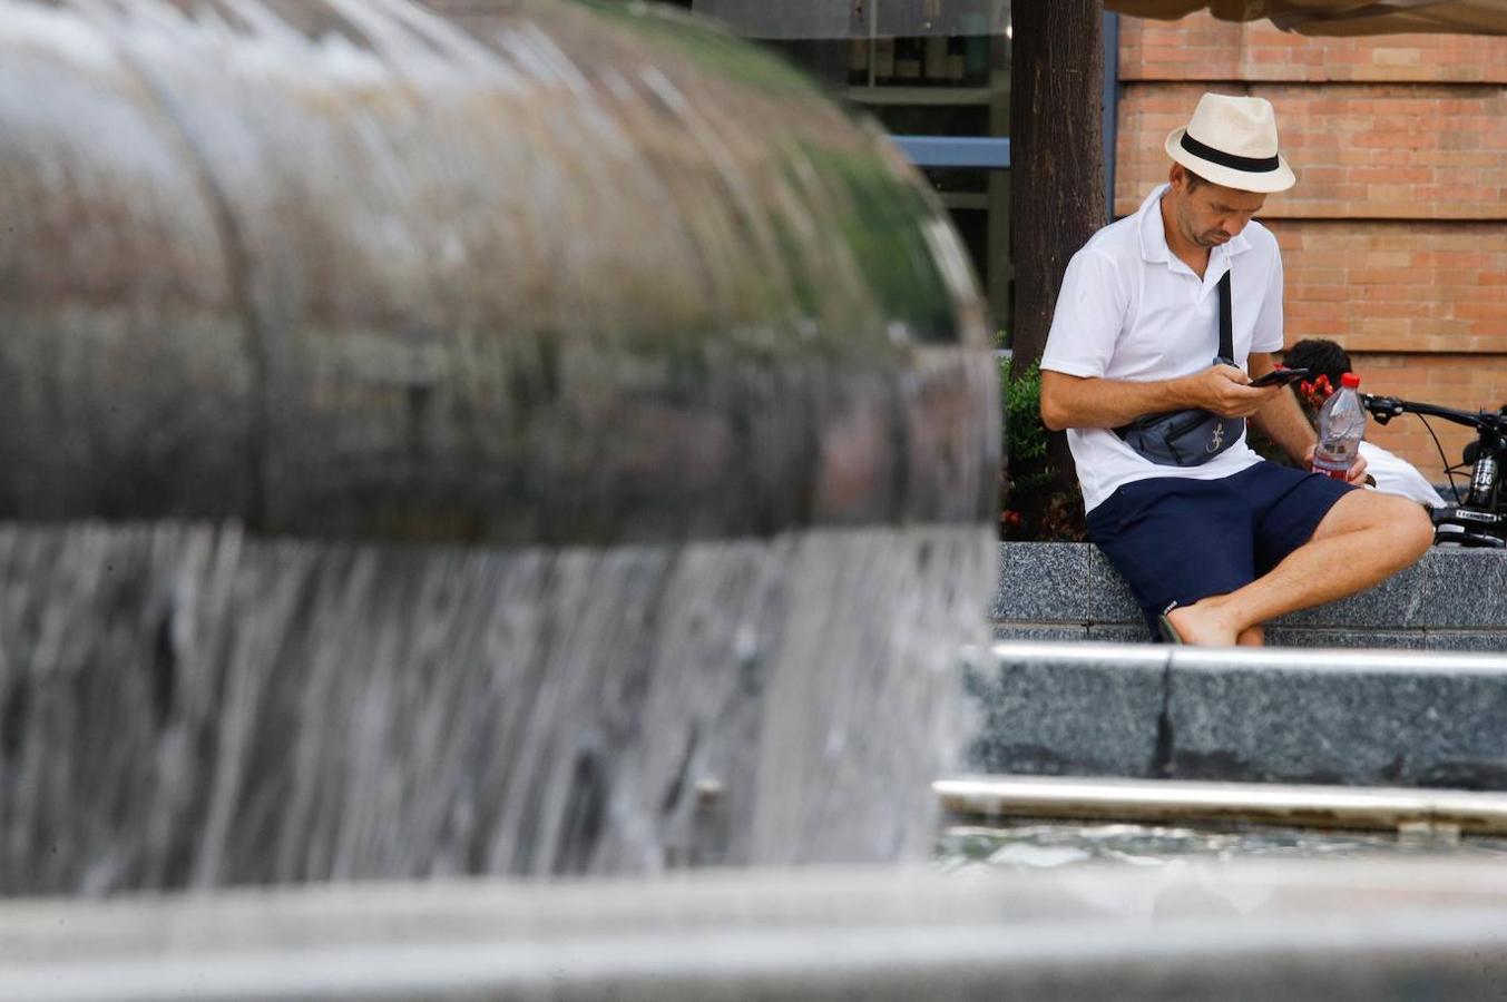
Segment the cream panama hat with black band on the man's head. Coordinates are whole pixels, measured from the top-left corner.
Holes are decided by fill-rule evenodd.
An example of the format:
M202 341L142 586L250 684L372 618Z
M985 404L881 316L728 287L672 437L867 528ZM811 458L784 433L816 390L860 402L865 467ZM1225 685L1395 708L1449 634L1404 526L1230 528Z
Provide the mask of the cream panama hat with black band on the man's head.
M1276 113L1266 98L1206 93L1188 128L1166 137L1166 155L1206 181L1240 191L1285 191L1296 182L1276 152Z

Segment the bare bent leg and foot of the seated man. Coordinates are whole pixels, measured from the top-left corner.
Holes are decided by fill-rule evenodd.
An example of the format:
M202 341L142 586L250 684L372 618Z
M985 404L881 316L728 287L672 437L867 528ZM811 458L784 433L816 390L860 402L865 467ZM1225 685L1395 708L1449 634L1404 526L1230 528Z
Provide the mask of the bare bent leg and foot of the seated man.
M1168 613L1188 643L1233 645L1269 619L1353 595L1409 567L1433 542L1429 514L1395 494L1350 491L1329 509L1313 539L1269 574L1228 595Z

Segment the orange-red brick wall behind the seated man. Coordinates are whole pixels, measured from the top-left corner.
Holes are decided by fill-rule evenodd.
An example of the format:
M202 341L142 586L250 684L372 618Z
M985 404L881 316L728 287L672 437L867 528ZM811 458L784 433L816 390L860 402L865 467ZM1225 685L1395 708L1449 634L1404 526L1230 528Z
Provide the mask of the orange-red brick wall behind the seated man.
M1276 107L1298 187L1263 221L1287 267L1287 342L1332 338L1374 392L1507 402L1507 44L1319 39L1209 15L1121 18L1115 211L1163 181L1204 90ZM1435 422L1451 461L1468 432ZM1371 437L1442 479L1415 417Z

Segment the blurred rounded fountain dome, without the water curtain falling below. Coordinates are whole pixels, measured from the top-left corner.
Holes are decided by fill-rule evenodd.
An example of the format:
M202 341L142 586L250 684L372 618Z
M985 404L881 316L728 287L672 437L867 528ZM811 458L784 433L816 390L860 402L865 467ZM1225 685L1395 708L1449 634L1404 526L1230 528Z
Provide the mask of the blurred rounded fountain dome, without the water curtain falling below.
M987 508L943 211L684 15L0 0L0 514L521 541ZM857 425L904 460L790 502Z

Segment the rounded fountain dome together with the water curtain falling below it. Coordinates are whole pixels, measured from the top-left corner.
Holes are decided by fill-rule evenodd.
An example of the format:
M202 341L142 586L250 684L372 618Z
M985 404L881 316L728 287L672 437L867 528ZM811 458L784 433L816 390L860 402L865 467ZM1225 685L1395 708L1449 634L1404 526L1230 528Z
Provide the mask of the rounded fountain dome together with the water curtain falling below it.
M0 892L925 853L945 212L684 17L0 0Z

